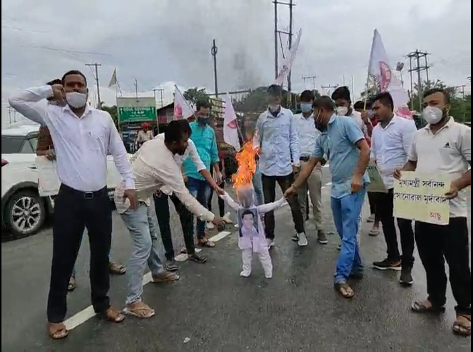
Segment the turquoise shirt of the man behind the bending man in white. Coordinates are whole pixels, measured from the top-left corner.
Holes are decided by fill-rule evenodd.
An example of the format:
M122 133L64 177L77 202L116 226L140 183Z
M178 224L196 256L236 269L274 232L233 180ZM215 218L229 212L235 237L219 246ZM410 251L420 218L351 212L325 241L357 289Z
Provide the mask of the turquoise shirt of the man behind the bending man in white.
M217 139L215 138L215 131L210 126L202 127L197 122L191 122L189 126L192 130L190 139L194 142L197 154L199 154L205 168L210 170L212 164L219 162L219 150L217 147ZM182 168L185 176L205 180L205 178L199 174L199 170L197 170L191 158L184 160Z

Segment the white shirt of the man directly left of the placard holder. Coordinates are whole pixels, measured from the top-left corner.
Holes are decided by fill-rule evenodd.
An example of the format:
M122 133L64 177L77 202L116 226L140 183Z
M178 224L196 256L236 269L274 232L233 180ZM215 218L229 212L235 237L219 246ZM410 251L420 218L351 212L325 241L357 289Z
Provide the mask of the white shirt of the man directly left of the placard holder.
M378 122L373 129L371 159L376 160L387 189L394 187L394 170L407 162L415 132L414 121L396 115L384 128Z

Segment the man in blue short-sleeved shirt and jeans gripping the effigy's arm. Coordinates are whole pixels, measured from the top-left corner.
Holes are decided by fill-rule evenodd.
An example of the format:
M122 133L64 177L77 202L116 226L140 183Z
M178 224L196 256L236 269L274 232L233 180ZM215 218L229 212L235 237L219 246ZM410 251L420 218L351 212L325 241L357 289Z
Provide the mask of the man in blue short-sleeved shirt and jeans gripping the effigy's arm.
M357 234L366 186L369 184L366 167L370 149L355 121L351 117L335 114L334 103L330 97L323 96L315 100L314 116L315 126L317 130L324 132L324 137L317 138L314 154L293 185L285 192L285 196L295 194L323 156L330 155L331 207L335 227L341 238L335 288L343 297L352 298L354 292L348 286L348 279L361 277L363 273Z

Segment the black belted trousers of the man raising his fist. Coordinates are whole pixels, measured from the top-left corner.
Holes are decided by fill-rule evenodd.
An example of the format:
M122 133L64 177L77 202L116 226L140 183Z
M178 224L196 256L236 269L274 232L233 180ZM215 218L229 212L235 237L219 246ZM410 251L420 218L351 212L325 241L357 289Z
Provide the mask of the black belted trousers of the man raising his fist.
M112 207L107 188L84 193L63 184L54 211L48 321L61 323L66 317L69 278L85 228L90 243L92 306L96 313L105 313L110 308L109 253L112 241Z

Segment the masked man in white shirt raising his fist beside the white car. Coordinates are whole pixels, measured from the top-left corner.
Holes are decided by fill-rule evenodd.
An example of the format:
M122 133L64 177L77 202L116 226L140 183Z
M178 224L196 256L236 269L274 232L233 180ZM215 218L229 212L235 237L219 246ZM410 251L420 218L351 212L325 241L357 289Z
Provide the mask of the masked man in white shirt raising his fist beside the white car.
M66 101L47 105L46 99ZM127 198L137 207L135 177L112 117L87 104L87 80L68 71L62 85L29 88L10 97L12 108L47 126L53 140L61 187L55 202L53 255L47 303L48 332L53 339L68 336L64 325L69 278L87 228L90 242L91 300L98 316L115 323L124 315L111 308L108 291L112 209L107 192L107 154L125 180Z

